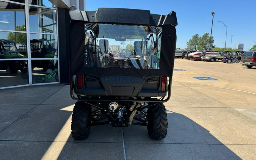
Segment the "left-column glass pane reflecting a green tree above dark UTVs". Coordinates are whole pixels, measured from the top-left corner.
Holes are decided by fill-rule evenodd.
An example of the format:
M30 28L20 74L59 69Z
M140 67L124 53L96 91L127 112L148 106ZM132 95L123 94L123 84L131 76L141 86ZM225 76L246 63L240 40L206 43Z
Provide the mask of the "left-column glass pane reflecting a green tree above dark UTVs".
M27 58L26 33L0 31L0 59Z

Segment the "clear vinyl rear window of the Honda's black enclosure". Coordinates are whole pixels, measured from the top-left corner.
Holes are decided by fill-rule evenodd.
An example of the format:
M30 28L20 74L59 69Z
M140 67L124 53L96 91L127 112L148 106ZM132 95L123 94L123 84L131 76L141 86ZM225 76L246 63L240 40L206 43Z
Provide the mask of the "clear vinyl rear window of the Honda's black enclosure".
M85 67L159 69L161 27L88 24Z

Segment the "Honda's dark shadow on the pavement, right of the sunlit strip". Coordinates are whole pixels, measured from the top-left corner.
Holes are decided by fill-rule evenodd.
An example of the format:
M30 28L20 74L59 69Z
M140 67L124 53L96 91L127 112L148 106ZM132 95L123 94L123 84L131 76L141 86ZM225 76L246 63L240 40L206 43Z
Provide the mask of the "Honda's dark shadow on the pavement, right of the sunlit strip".
M168 133L163 140L150 139L145 126L93 126L85 141L70 136L58 159L123 159L124 153L126 159L241 159L192 119L172 111L167 114Z

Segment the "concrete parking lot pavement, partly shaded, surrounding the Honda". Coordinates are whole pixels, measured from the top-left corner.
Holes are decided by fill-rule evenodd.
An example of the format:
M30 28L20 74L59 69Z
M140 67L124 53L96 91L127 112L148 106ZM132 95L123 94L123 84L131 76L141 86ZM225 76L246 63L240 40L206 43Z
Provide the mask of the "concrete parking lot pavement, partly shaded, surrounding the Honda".
M93 126L75 141L69 86L0 90L0 159L255 159L256 67L176 59L174 69L160 141L136 125Z

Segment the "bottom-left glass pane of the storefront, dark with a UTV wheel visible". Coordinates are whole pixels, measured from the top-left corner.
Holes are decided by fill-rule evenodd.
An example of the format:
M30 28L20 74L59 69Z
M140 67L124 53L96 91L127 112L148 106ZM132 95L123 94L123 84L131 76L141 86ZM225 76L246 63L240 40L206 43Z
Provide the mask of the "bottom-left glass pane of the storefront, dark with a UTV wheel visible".
M0 87L27 85L28 61L0 61Z

